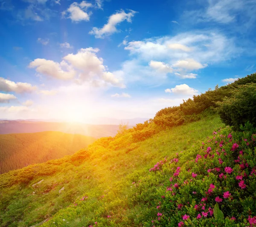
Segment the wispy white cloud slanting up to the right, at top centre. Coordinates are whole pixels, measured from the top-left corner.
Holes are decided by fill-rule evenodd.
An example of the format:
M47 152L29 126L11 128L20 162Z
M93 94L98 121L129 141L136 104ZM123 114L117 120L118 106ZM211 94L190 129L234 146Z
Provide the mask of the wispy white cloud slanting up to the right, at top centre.
M93 27L89 34L95 35L96 38L104 38L105 36L116 33L118 32L116 26L125 20L131 23L131 17L134 17L135 13L136 11L133 10L129 10L128 13L125 13L123 10L117 11L108 18L108 23L106 23L101 29Z

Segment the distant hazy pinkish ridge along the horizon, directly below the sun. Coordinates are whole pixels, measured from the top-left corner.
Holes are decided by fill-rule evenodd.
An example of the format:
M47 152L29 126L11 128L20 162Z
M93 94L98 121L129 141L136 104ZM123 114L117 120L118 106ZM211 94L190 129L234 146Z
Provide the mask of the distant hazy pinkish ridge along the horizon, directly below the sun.
M116 135L119 125L92 125L65 122L0 121L0 134L58 131L94 138Z

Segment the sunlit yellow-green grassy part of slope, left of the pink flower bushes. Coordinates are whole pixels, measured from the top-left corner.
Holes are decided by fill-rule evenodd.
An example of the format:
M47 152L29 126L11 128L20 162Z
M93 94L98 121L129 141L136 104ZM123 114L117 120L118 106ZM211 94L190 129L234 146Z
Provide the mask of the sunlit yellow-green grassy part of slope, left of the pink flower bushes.
M126 135L118 145L111 138L102 139L72 156L0 175L0 226L31 226L46 218L51 220L43 226L82 227L95 220L105 220L103 226L142 226L140 216L152 211L143 207L144 203L127 208L131 182L147 177L157 161L176 152L185 153L220 126L220 119L212 115L166 129L143 142L125 144L122 149L118 147L127 141ZM107 203L106 194L110 199ZM141 196L137 202L145 195ZM108 218L115 211L115 219Z

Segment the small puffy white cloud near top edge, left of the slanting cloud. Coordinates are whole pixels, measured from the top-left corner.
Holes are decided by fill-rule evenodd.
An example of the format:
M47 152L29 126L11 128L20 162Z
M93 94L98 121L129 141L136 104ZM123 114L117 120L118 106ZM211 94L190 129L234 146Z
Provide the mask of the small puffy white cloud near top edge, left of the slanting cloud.
M91 12L88 13L87 9L90 7L93 7L93 5L91 3L87 3L86 1L82 1L81 3L74 2L61 14L62 17L65 17L65 15L68 14L68 17L66 18L70 18L73 22L79 22L82 20L89 21Z

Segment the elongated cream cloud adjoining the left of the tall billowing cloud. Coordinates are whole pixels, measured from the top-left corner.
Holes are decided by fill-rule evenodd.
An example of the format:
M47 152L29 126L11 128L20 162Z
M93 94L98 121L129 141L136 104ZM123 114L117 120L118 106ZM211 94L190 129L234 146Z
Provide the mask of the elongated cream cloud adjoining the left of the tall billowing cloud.
M76 71L65 61L56 63L52 60L37 58L29 63L29 68L36 68L36 72L61 80L69 80L76 75ZM66 69L66 71L63 69Z

